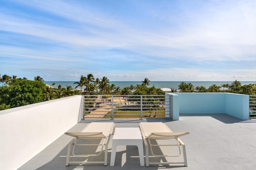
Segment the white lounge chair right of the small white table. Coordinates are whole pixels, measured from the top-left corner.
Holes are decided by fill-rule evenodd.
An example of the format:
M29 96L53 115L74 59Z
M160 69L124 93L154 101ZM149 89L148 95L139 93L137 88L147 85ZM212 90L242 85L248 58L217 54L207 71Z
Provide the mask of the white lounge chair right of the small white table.
M146 166L148 167L149 164L184 164L184 166L188 166L187 158L186 158L186 149L185 144L179 139L179 137L189 134L189 132L172 132L169 127L167 127L162 122L141 122L139 124L140 131L142 133L142 138L145 144L146 149ZM167 145L158 145L152 144L154 141L152 140L169 140L169 139L176 139L177 144L167 144ZM182 146L183 151L183 159L184 162L149 162L148 156L148 146L150 147L151 153L153 156L157 157L165 157L165 156L180 156L180 146ZM154 154L152 147L162 147L162 146L178 146L179 154L174 155L158 155Z

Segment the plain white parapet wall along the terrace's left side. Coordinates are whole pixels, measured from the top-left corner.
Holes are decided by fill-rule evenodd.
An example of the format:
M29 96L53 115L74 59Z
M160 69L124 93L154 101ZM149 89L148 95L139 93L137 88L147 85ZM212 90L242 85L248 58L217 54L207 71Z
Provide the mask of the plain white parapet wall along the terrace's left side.
M82 96L0 111L0 166L15 170L81 120Z

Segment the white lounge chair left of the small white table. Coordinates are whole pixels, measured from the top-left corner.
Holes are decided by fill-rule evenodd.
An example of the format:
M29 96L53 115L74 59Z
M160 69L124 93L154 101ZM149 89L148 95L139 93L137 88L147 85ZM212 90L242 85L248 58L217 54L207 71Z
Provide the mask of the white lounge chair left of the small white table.
M68 144L68 153L66 159L66 166L70 163L75 164L85 164L85 163L104 163L104 166L107 165L108 161L108 143L111 137L111 134L114 130L114 123L110 122L92 122L88 124L82 131L80 132L66 132L66 135L70 135L74 137L74 139ZM100 139L100 143L94 144L93 142L88 143L77 143L78 139L86 139L87 140L96 140ZM102 153L103 147L105 145L105 158L104 161L70 161L70 152L71 146L74 145L72 154L74 157L87 157L87 156L98 156ZM76 146L84 146L84 147L93 147L93 146L100 146L101 150L100 153L93 153L93 154L75 154L75 147Z

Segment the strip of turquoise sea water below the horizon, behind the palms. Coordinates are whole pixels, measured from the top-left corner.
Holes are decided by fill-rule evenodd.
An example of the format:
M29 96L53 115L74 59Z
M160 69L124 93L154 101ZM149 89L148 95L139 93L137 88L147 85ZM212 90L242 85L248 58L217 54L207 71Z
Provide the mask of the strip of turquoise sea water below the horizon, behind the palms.
M216 84L217 86L221 86L222 84L232 84L233 81L220 81L220 82L186 82L184 81L185 83L191 83L193 84L194 87L196 86L204 86L205 88L208 88L210 87L212 84ZM52 83L53 82L44 82L45 84L49 84L52 86ZM66 88L66 86L71 86L72 88L75 88L76 87L76 84L74 84L74 82L55 82L56 84L54 85L55 88L57 88L59 85L62 86L62 88ZM252 82L249 82L249 81L246 81L246 82L240 82L242 85L244 84L256 84L256 81L252 81ZM131 84L136 86L137 84L142 84L141 81L138 81L138 82L110 82L110 84L115 84L116 86L119 86L120 88L124 88L124 87L128 87L130 86ZM176 89L178 90L178 86L180 85L180 82L151 82L150 81L150 85L149 87L152 87L152 86L155 86L156 88L173 88L173 89ZM78 87L80 88L80 87ZM84 87L85 88L85 87Z

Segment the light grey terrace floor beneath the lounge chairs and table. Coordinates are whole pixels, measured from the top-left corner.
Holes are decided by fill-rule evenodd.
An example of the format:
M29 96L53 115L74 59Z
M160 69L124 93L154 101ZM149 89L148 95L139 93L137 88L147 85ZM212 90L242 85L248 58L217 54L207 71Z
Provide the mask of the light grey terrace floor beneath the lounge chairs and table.
M18 170L254 170L256 167L255 119L243 121L227 114L180 114L179 121L88 119L80 121L69 131L80 131L91 122L114 122L115 127L138 127L140 122L157 121L162 121L174 132L190 132L189 135L180 138L186 145L187 167L182 165L140 166L136 146L118 147L115 165L110 166L111 140L108 149L108 166L103 164L65 166L68 143L73 138L62 135Z

